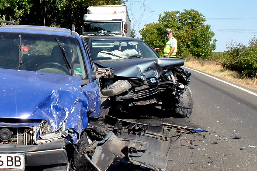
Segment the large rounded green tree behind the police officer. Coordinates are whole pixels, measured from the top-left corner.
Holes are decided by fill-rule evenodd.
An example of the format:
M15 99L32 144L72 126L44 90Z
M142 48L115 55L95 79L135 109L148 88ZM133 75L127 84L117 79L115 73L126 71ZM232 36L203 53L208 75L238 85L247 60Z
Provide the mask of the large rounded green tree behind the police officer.
M150 46L162 47L167 41L165 30L172 29L177 39L178 56L188 50L195 57L207 58L215 50L217 40L213 39L214 32L204 24L205 21L204 16L194 9L164 12L163 16L159 15L158 23L146 24L139 32L141 39ZM158 53L162 55L162 52Z

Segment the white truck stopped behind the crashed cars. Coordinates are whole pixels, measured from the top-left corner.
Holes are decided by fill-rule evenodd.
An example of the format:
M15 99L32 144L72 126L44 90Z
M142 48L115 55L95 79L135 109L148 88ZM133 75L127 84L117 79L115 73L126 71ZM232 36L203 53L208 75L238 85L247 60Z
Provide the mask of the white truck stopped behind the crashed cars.
M130 37L130 22L126 5L89 6L83 17L82 34Z

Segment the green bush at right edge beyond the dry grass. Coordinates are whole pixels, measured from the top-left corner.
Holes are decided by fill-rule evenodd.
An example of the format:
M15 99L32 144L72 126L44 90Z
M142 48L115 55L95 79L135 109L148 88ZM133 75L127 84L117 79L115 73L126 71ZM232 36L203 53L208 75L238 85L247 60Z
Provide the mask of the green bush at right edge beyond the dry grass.
M227 51L220 60L221 66L237 71L246 77L256 77L257 74L257 39L252 38L249 46L230 42Z

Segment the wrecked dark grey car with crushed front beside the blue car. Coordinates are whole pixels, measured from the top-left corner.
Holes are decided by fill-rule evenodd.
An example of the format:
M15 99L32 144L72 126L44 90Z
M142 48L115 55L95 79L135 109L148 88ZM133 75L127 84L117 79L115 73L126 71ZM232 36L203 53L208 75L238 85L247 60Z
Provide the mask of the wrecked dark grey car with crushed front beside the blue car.
M94 64L114 70L113 79L100 79L102 95L113 110L130 106L161 106L170 115L188 118L193 111L191 72L184 59L160 58L145 42L131 37L86 37Z

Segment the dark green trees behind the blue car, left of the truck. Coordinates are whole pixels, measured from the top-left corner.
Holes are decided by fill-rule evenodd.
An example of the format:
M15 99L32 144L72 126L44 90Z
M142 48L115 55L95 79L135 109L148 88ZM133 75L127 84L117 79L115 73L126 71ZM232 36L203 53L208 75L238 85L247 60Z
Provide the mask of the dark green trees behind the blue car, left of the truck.
M1 0L0 18L19 25L57 26L76 31L89 5L120 5L123 0ZM46 9L46 10L45 10ZM46 15L45 15L46 13Z

